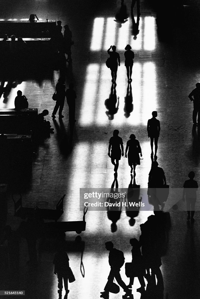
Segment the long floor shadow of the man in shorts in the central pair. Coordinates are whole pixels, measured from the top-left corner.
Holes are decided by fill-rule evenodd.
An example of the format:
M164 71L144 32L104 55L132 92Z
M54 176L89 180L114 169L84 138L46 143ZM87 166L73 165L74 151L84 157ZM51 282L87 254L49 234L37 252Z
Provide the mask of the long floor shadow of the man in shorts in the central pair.
M114 190L114 184L115 184L115 190ZM117 231L117 221L120 219L121 216L121 198L115 198L114 194L118 194L118 181L117 181L117 173L114 173L114 181L111 185L110 189L110 196L107 198L107 202L109 204L112 203L120 203L119 207L112 206L112 207L107 207L107 216L108 219L112 221L111 224L111 231L114 233Z

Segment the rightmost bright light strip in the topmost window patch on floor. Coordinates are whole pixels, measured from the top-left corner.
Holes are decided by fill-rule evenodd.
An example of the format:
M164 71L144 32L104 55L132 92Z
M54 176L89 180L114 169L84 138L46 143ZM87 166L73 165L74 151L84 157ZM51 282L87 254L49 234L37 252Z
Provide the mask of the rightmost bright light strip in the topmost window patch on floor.
M152 51L155 49L155 18L144 18L144 50Z

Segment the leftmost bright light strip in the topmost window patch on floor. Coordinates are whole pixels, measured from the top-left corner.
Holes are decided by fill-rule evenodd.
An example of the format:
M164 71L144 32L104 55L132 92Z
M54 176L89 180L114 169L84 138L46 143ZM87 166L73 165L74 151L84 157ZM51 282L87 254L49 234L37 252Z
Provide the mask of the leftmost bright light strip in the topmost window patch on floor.
M101 50L102 39L103 39L103 28L104 28L104 18L95 18L93 31L92 31L92 40L90 45L91 51Z

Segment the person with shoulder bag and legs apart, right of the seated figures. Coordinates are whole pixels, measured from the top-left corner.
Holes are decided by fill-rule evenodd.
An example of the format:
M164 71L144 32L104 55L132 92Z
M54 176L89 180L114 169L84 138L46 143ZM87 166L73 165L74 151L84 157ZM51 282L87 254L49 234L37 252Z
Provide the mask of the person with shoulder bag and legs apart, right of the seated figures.
M64 117L62 115L62 110L65 103L65 79L64 78L58 79L58 83L56 84L56 95L57 95L56 105L54 107L54 111L51 116L53 119L56 117L58 108L59 108L59 112L58 112L59 118Z

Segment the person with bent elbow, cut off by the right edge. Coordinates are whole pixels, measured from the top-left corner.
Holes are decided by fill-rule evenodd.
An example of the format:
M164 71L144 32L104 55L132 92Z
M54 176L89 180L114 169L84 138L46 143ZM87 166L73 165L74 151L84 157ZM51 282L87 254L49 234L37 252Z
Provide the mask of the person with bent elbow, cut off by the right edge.
M194 110L193 110L193 126L197 125L196 117L198 114L198 125L200 126L200 83L196 83L196 88L193 89L192 92L189 94L189 99L193 101Z

